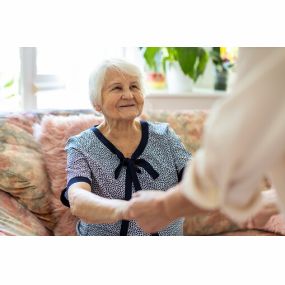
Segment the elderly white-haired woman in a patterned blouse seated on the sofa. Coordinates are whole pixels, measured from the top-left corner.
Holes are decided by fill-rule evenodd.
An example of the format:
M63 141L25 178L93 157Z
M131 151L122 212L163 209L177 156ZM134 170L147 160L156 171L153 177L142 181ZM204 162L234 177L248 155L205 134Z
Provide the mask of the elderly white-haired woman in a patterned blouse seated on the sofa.
M62 202L79 217L79 235L149 235L128 220L138 190L176 185L191 155L165 123L142 121L142 74L123 60L105 61L90 76L90 98L104 121L66 145ZM153 235L182 235L183 219Z

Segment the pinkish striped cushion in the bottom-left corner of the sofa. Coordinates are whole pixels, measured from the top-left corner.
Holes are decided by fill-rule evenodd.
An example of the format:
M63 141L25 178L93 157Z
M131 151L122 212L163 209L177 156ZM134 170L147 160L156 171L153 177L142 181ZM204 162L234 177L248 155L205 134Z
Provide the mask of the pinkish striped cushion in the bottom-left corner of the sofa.
M0 191L0 235L51 235L40 220L10 194Z

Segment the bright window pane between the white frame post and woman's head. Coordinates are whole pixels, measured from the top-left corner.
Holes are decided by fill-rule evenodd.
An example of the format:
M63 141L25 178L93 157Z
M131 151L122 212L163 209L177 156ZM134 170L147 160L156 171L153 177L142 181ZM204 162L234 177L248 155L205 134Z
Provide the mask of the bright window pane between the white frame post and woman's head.
M39 109L88 109L90 72L107 58L136 61L136 48L37 48L36 97Z

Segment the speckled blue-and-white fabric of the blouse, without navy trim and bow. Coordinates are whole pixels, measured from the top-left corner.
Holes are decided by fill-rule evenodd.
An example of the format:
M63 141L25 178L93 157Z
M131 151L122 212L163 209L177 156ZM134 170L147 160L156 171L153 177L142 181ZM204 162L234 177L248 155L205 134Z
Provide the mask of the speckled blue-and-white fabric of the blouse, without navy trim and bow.
M146 123L146 122L145 122ZM178 183L178 173L191 159L180 139L165 123L148 124L148 141L139 159L146 160L158 173L153 179L142 167L137 173L143 190L167 190ZM143 136L146 134L142 133ZM124 199L126 167L115 179L115 169L120 163L118 156L102 143L92 129L71 137L66 145L67 181L75 177L86 177L91 181L92 192L111 199ZM132 191L135 192L134 186ZM79 221L79 235L120 235L121 221L114 224L87 224ZM159 235L182 235L183 219L178 219L159 232ZM148 235L130 221L128 235Z

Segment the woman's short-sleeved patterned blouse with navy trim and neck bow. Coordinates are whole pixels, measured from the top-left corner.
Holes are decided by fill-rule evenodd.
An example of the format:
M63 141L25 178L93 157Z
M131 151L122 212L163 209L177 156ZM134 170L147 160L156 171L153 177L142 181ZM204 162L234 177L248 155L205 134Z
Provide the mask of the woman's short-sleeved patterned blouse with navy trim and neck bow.
M61 195L63 204L68 188L86 182L100 197L130 200L138 190L167 190L182 176L191 154L166 123L141 121L142 138L131 156L124 155L95 126L71 137L67 151L67 187ZM79 221L79 235L149 235L135 221L113 224L88 224ZM155 235L182 235L183 219L177 219Z

